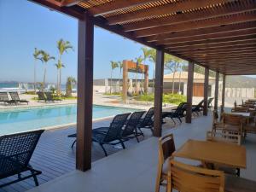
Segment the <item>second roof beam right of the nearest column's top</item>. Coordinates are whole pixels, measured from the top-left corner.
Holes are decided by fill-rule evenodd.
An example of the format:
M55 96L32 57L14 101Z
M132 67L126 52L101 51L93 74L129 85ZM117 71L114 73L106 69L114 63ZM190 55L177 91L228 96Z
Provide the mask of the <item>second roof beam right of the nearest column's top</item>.
M124 15L116 15L113 17L108 17L109 25L116 25L119 23L132 21L132 20L140 20L147 17L157 16L157 15L166 15L171 13L177 13L186 11L189 9L198 9L207 6L211 6L218 3L227 3L230 0L197 0L197 1L179 1L176 3L169 3L162 6L138 10L135 12L131 12Z

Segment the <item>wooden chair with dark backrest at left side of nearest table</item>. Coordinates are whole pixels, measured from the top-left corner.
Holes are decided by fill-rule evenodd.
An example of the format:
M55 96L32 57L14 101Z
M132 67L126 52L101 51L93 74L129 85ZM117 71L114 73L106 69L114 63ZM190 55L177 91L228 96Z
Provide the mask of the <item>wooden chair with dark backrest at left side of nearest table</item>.
M160 185L164 184L163 182L167 182L167 170L168 166L168 160L172 153L175 151L175 144L173 135L169 134L165 137L161 137L159 139L159 162L158 162L158 172L156 177L156 183L155 183L155 192L160 191Z

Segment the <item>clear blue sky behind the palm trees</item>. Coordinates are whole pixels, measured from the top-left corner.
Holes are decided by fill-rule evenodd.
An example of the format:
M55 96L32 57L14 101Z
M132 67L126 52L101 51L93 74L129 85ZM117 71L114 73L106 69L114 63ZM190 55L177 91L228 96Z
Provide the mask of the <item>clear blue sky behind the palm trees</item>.
M34 48L44 49L49 55L58 56L56 42L69 41L74 50L63 55L65 68L62 82L68 76L77 78L78 20L51 11L26 0L0 0L0 81L33 82ZM110 61L135 59L143 55L142 44L95 27L94 79L109 78ZM149 77L154 64L149 65ZM44 65L37 62L38 81L43 81ZM119 78L119 69L113 73ZM49 61L46 81L55 83L55 61Z

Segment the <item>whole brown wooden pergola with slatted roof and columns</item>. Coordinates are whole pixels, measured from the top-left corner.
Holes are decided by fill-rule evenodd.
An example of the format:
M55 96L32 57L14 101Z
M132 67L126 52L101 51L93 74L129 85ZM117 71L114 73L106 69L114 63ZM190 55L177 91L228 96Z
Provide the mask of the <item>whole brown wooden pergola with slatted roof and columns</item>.
M194 64L218 77L256 74L255 0L31 0L79 20L77 169L91 167L94 26L156 49L154 136L161 135L164 53L189 61L186 122L191 122ZM224 107L224 90L222 106Z

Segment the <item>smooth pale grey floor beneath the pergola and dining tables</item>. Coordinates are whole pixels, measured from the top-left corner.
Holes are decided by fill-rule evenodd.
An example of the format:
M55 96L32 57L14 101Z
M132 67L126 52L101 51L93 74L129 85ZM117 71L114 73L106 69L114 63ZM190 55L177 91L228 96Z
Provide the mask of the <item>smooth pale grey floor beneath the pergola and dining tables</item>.
M189 138L204 140L211 125L211 116L201 116L193 119L192 124L183 123L174 129L164 129L163 135L172 132L176 148L179 148ZM157 142L158 138L150 137L133 148L97 160L88 172L70 172L29 192L154 192ZM244 145L247 148L247 169L241 170L241 177L256 181L256 135L249 134Z

